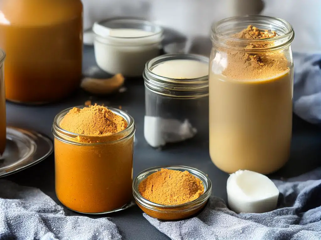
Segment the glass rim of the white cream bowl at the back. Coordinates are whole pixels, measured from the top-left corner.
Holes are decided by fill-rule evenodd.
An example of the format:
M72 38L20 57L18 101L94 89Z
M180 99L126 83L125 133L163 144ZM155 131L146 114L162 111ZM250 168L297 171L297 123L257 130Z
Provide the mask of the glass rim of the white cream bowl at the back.
M101 21L96 21L93 25L93 32L98 35L98 36L101 36L101 37L107 37L105 35L101 35L101 34L98 34L94 29L95 29L95 26L99 26L99 27L102 27L102 28L106 28L106 29L112 29L112 28L108 28L106 26L104 26L103 24L104 23L108 23L108 22L113 22L113 21L123 21L123 22L128 22L128 23L141 23L143 25L146 25L146 26L153 26L157 29L156 32L152 32L153 34L151 35L148 35L148 36L139 36L139 37L117 37L117 36L110 36L108 35L109 38L111 39L143 39L143 38L146 38L146 37L153 37L153 36L156 36L156 35L162 35L163 32L164 32L164 29L158 25L158 24L155 24L155 23L152 23L150 21L147 21L147 20L143 20L143 19L140 19L140 18L131 18L131 17L119 17L119 18L109 18L109 19L105 19L105 20L101 20ZM137 29L137 28L135 28Z

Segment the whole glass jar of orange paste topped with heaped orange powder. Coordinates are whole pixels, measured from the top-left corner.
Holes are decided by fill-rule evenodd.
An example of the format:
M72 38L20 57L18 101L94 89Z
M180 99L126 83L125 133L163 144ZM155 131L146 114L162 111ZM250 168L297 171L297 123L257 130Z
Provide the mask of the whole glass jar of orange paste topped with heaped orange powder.
M125 209L132 201L134 119L102 106L57 114L55 188L59 201L81 213Z

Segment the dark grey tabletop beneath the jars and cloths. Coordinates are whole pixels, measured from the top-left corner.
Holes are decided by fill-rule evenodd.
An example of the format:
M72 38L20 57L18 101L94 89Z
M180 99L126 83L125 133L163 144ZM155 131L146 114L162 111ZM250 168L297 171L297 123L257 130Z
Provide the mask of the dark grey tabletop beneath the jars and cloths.
M88 72L88 67L90 66L96 66L93 50L91 47L85 47L85 73ZM226 200L226 180L228 174L221 172L211 162L208 152L208 136L204 138L204 141L192 139L183 143L167 146L162 150L148 146L143 137L143 79L126 80L125 84L127 87L126 92L105 97L92 97L92 102L97 102L98 104L104 103L105 105L113 107L122 106L123 110L128 111L128 113L134 117L137 126L137 142L134 150L134 176L140 171L152 166L173 164L188 165L206 172L213 183L213 195ZM90 94L79 90L68 99L44 106L22 106L7 103L7 122L9 125L43 132L52 138L51 125L55 115L65 108L82 105L89 98ZM282 170L273 174L272 177L286 178L308 172L321 165L320 159L320 128L294 116L291 158L288 164L286 164ZM21 185L40 188L60 204L56 198L54 189L53 155L29 169L5 178ZM65 212L66 214L77 214L68 209L65 209ZM169 239L143 218L142 211L137 206L122 212L104 215L104 217L111 217L111 220L117 224L125 239Z

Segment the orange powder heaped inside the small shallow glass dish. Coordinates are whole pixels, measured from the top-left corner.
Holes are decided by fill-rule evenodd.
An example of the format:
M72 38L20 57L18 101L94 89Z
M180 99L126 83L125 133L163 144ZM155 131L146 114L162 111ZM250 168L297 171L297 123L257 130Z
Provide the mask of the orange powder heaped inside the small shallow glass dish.
M162 168L144 179L138 191L153 203L178 205L197 199L204 193L204 186L203 181L188 171Z

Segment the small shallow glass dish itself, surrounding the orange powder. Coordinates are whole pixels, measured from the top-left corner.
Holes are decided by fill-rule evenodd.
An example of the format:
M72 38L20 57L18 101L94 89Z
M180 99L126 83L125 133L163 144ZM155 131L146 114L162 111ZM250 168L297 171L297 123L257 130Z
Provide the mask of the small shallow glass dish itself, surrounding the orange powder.
M176 171L188 171L195 177L203 181L204 193L194 201L179 204L179 205L161 205L153 203L143 196L138 191L138 186L142 180L147 178L154 172L160 171L162 168L167 168ZM212 194L212 183L208 176L196 168L187 166L161 166L152 167L140 172L133 181L133 195L137 205L149 216L160 220L180 220L189 218L200 212L206 205L208 198Z

